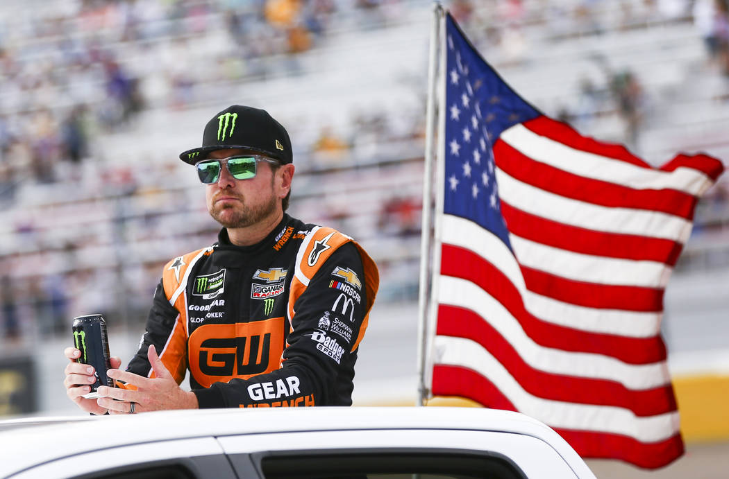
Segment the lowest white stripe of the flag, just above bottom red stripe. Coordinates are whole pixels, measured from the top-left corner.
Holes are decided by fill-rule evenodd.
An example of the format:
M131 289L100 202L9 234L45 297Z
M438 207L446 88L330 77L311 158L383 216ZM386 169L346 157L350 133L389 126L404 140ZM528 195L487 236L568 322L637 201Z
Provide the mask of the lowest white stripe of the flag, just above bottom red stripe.
M679 430L677 411L639 417L617 406L567 403L531 395L493 355L469 339L436 336L434 353L435 364L462 366L479 373L519 412L538 417L550 427L625 435L644 443L666 440Z

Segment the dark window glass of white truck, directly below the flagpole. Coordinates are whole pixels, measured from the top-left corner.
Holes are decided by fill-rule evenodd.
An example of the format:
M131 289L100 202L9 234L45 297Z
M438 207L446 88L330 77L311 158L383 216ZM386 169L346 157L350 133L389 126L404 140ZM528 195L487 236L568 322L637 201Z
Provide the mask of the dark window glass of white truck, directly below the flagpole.
M357 478L523 479L510 459L478 451L297 451L265 454L260 468L266 479Z

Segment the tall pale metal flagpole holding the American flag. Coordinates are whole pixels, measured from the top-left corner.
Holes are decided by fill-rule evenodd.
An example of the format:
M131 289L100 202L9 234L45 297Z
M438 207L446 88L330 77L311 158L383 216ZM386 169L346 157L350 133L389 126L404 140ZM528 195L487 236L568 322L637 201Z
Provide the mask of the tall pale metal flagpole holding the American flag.
M418 296L418 400L416 405L424 405L428 396L425 384L425 363L427 346L427 325L429 311L429 269L431 266L431 233L432 214L431 199L433 197L433 164L435 102L437 89L437 62L438 44L440 40L440 19L443 17L443 6L440 2L433 3L433 25L430 35L430 52L428 66L428 103L426 107L426 138L425 138L425 171L423 174L423 203L421 216L421 244L420 244L420 295ZM443 114L442 112L440 114Z

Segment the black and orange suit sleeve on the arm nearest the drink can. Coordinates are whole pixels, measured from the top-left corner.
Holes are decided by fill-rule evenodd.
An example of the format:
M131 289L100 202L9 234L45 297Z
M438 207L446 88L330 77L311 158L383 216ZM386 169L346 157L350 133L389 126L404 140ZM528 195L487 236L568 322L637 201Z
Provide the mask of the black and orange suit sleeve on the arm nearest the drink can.
M155 346L157 355L163 360L165 367L172 373L177 384L184 379L184 370L187 368L185 349L178 343L184 344L184 325L181 325L179 311L172 306L165 295L163 280L155 290L152 308L147 315L147 327L139 341L139 349L132 357L126 370L139 376L153 377L152 366L147 359L147 349L150 344ZM174 347L171 347L173 346Z

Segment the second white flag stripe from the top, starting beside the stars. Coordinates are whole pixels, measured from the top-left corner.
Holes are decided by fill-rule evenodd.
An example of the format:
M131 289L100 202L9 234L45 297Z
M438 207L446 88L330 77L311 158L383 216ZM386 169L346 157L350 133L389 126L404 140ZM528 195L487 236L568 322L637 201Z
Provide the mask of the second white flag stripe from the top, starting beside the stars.
M499 197L515 208L564 223L595 231L636 234L685 243L691 222L678 216L652 210L606 207L561 197L516 178L496 168Z

